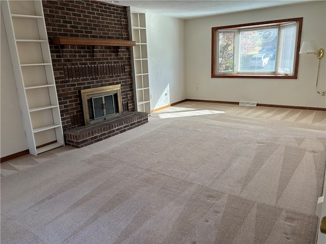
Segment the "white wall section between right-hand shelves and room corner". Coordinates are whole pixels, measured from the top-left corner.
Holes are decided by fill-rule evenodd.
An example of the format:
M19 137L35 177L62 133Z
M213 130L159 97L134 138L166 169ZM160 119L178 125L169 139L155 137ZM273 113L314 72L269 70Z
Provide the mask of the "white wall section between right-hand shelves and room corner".
M146 13L146 34L153 110L186 99L185 21Z

